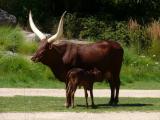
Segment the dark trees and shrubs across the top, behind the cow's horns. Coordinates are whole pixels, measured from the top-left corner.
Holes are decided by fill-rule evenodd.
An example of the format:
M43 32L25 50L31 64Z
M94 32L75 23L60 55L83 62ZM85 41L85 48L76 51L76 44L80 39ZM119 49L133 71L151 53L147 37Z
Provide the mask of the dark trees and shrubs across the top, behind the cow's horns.
M126 46L138 44L138 49L143 50L151 46L143 26L160 17L159 0L0 0L0 8L14 14L25 29L29 28L31 10L35 23L44 32L55 32L66 10L65 37L114 39ZM134 36L127 29L130 20L142 25L138 31L131 31L136 32Z

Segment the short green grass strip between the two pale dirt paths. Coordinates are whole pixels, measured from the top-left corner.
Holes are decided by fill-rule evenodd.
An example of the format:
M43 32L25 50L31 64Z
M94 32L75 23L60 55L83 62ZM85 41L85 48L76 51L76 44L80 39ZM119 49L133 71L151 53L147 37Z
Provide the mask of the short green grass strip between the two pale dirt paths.
M95 98L94 108L85 106L85 99L77 97L75 108L64 107L65 98L57 97L0 97L0 112L105 112L160 111L159 98L120 98L118 106L109 106L109 98Z

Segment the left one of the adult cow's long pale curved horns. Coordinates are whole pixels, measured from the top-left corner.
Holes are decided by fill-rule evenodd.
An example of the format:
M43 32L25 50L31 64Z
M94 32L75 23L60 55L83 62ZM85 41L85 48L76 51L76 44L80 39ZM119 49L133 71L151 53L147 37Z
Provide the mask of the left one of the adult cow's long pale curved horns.
M38 28L35 26L32 19L31 11L29 12L29 24L32 31L40 38L40 40L46 39L46 36L41 31L39 31Z

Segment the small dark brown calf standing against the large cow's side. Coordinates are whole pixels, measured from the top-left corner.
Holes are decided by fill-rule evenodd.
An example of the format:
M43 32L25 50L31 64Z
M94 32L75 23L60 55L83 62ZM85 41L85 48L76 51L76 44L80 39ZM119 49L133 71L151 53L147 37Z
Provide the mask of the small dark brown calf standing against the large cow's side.
M81 68L73 68L67 74L67 105L66 107L74 107L74 94L77 89L77 86L84 87L86 106L88 108L88 93L87 90L90 91L92 107L94 106L93 100L93 83L95 81L100 81L102 79L101 72L94 68L92 70L84 70Z

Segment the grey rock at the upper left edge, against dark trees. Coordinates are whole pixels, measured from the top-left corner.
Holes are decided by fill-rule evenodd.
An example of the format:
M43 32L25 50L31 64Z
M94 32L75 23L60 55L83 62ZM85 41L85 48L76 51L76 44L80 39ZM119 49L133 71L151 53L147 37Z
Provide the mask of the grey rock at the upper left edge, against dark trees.
M17 19L14 15L0 9L0 25L16 25Z

